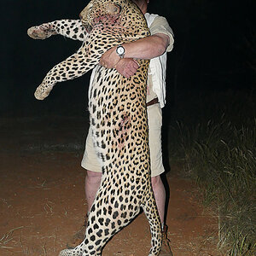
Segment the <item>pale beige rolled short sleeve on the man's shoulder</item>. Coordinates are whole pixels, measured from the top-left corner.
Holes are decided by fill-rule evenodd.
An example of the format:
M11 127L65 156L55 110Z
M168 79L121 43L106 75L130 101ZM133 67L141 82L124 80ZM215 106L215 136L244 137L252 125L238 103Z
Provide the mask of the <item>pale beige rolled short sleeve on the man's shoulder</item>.
M154 35L156 33L162 33L167 35L170 38L170 43L166 51L169 52L173 49L174 35L172 32L172 28L169 26L168 21L166 20L165 17L162 17L162 16L155 17L154 21L149 26L149 31L151 35Z

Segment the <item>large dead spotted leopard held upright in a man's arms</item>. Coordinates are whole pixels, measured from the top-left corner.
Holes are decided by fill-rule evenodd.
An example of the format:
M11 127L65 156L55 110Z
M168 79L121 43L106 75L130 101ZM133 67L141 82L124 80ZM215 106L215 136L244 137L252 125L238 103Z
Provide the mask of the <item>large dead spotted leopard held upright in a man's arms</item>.
M130 0L91 0L81 20L58 20L33 26L32 38L60 33L83 41L77 53L53 67L38 86L42 100L57 82L74 79L96 67L114 45L149 35L141 11ZM148 61L130 79L115 69L100 67L89 92L90 124L96 152L102 162L102 183L90 209L84 241L60 256L101 255L102 247L129 224L143 208L152 235L148 255L160 253L160 217L150 179L146 84Z

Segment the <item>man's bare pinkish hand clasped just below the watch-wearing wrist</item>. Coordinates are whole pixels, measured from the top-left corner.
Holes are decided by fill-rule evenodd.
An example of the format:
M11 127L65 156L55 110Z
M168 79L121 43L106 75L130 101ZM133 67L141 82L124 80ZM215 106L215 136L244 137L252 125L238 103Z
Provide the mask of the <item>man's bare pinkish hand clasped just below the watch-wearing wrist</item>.
M116 64L115 69L118 73L123 75L126 79L129 79L133 76L139 67L137 61L133 59L120 59L119 62Z

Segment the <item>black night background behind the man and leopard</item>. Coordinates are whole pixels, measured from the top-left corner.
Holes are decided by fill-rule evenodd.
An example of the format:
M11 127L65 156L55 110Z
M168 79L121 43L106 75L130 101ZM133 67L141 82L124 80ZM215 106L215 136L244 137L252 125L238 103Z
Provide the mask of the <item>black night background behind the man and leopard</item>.
M78 19L88 2L9 0L2 4L1 117L83 116L90 73L57 84L43 102L33 96L49 69L81 43L60 36L33 40L26 30L46 21ZM148 11L165 16L175 33L174 49L168 55L167 108L181 90L255 89L255 1L151 0Z

